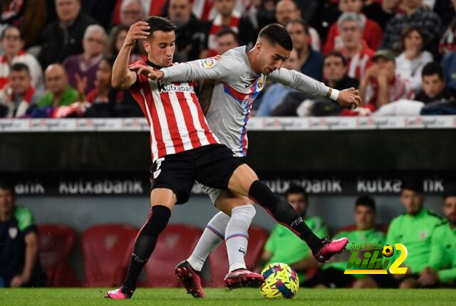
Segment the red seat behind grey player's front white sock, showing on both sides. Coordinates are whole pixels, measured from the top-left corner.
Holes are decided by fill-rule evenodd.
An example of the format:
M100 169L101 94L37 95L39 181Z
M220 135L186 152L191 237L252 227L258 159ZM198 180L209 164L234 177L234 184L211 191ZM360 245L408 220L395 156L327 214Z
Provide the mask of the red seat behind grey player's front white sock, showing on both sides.
M250 226L249 228L249 246L247 248L247 255L245 256L245 263L247 269L252 270L257 260L263 252L264 243L268 238L268 233L259 226ZM229 263L227 255L227 246L222 243L214 252L209 255L209 267L211 273L211 280L209 286L223 287L223 279L228 273Z

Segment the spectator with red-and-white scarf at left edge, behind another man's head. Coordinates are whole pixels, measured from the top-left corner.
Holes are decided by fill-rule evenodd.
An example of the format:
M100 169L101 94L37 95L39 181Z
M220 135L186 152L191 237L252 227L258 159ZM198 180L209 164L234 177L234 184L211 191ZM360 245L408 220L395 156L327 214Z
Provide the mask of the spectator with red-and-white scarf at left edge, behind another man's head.
M24 41L22 40L19 28L7 26L0 36L1 48L4 50L0 57L0 89L9 83L9 70L14 63L24 63L28 66L31 75L31 82L34 88L44 89L43 69L38 60L31 54L22 50Z

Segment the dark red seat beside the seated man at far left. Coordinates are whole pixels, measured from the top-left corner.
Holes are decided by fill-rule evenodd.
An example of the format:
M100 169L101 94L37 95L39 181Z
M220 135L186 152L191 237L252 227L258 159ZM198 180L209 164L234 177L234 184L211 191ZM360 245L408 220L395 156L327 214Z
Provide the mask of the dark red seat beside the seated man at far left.
M70 266L71 252L76 243L76 232L69 226L38 225L39 256L48 276L47 287L79 287L81 282Z

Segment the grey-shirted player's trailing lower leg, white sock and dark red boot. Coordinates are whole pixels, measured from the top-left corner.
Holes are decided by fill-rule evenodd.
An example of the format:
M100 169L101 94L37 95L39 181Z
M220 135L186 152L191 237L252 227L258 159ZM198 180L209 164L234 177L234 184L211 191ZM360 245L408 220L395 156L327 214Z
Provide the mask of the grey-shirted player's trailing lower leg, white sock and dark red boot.
M224 241L228 222L229 216L222 211L213 216L207 223L192 255L175 268L177 278L182 281L187 293L193 297L204 297L199 273L209 253Z

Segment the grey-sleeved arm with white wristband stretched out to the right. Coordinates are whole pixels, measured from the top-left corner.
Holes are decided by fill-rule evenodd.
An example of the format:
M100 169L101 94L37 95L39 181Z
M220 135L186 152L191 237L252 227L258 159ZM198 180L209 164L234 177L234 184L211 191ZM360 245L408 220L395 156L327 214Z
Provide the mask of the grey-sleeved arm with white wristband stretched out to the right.
M331 100L338 102L342 106L350 106L356 108L361 104L358 90L348 88L346 90L336 90L329 88L324 83L314 80L303 73L296 70L280 68L271 73L270 78L283 85L294 88L314 97L328 97Z

